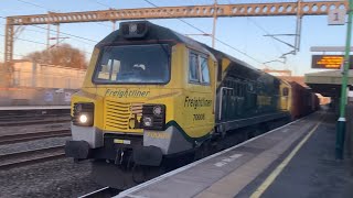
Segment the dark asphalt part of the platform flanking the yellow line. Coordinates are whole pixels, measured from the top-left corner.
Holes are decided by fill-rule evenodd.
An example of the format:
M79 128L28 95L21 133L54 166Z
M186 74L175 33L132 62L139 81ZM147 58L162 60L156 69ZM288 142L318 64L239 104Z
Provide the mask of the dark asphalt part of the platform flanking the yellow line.
M349 156L336 161L334 113L325 113L322 122L311 138L303 144L278 177L264 190L261 198L324 197L353 198L353 164ZM280 157L282 161L287 155ZM272 167L264 172L236 198L250 197L265 177L274 172Z

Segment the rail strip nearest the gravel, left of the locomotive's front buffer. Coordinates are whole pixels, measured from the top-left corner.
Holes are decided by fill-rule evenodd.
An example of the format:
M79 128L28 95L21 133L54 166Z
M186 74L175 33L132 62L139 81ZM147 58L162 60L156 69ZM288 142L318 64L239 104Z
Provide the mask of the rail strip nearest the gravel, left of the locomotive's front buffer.
M0 155L0 169L25 166L34 163L62 158L64 156L64 145L3 154Z

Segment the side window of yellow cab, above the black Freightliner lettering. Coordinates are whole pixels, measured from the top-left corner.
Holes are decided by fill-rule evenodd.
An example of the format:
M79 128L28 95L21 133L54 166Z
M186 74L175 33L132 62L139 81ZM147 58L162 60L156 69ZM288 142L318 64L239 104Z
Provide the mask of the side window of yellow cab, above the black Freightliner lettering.
M210 85L208 59L197 53L189 54L189 81Z

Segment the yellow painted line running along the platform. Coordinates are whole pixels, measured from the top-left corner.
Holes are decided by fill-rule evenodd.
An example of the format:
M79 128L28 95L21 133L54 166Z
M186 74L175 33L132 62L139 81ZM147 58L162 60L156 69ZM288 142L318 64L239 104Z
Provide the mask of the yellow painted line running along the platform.
M309 138L317 131L321 121L317 123L317 125L300 141L300 143L290 152L290 154L280 163L276 169L265 179L265 182L253 193L250 198L259 198L266 189L274 183L277 176L285 169L291 158L298 153L301 146L309 140Z

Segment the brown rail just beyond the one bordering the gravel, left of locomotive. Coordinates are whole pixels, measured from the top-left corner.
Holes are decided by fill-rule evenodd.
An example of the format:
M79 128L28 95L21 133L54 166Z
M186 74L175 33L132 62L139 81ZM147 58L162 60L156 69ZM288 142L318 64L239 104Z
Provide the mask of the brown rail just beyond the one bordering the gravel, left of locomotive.
M33 133L8 134L0 136L0 145L69 135L71 131L68 129L38 131Z

